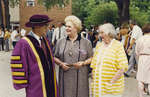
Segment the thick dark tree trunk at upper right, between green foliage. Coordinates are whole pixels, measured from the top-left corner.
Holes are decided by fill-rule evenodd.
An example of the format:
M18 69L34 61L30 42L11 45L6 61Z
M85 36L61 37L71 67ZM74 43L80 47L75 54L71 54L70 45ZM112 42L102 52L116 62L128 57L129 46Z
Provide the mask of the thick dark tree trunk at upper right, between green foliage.
M130 0L115 0L118 7L119 23L128 22L130 19L129 6Z

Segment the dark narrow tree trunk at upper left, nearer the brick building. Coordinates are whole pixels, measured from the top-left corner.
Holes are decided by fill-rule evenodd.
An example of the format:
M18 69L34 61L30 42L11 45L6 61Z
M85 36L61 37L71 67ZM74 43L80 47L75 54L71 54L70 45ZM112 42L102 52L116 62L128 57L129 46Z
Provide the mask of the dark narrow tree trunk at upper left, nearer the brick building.
M6 28L10 29L9 0L4 1Z

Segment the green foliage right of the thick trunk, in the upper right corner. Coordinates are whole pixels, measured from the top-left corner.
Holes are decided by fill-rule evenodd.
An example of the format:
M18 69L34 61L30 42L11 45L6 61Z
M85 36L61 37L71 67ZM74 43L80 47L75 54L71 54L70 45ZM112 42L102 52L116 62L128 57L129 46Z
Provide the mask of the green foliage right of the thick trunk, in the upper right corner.
M140 26L150 23L150 1L131 0L130 17L136 20Z

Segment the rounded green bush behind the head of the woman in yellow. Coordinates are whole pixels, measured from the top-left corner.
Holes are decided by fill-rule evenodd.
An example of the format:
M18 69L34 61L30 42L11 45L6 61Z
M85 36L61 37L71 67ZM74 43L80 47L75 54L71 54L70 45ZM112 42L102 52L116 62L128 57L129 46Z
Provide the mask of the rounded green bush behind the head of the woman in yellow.
M117 6L115 2L101 3L91 11L91 14L86 19L86 25L99 25L105 22L118 24Z

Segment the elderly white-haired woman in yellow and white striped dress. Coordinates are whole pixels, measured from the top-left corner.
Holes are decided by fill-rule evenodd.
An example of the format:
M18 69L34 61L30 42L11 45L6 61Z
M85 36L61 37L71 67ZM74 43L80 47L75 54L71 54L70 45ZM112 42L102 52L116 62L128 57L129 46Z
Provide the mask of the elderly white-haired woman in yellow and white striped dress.
M102 42L98 43L91 67L93 97L122 97L128 61L123 44L114 39L115 28L107 23L99 26ZM87 60L88 63L88 60Z

